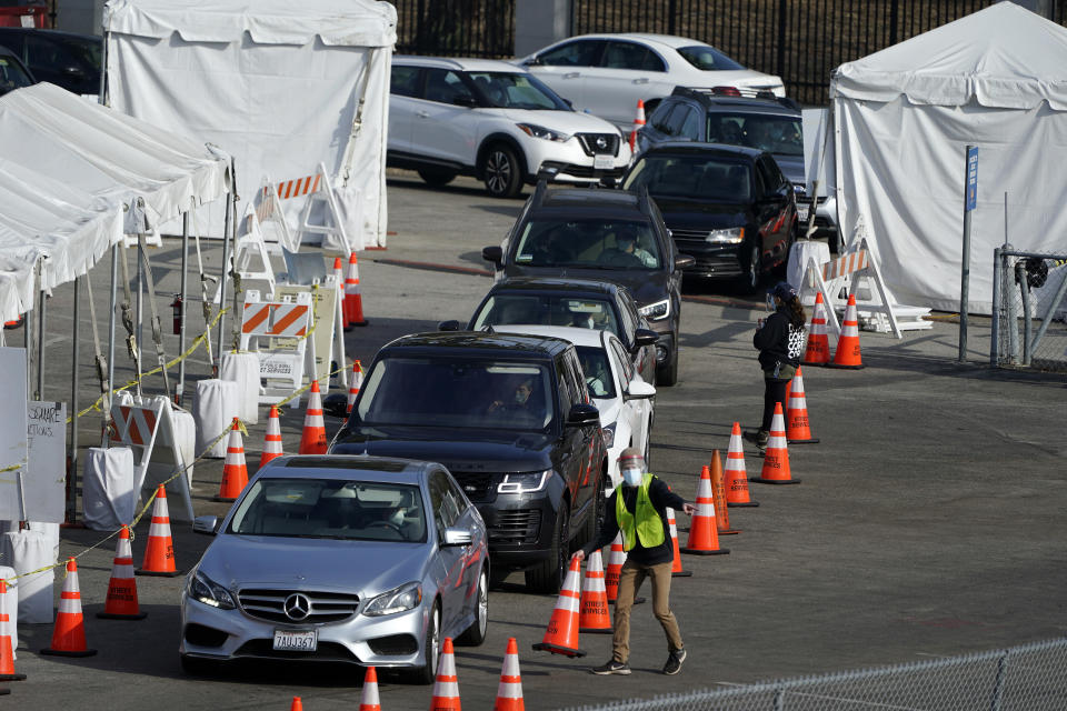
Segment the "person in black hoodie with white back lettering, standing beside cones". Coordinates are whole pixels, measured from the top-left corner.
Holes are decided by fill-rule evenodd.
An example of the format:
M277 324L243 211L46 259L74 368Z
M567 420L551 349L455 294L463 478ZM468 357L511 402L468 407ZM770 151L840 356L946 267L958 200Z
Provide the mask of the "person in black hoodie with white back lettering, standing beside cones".
M759 430L745 433L745 439L758 447L765 447L770 437L775 403L780 402L782 410L788 404L786 393L800 364L807 321L804 304L788 282L778 282L770 293L775 299L775 312L766 321L760 319L752 337L752 346L759 349L759 367L764 371L764 420Z

